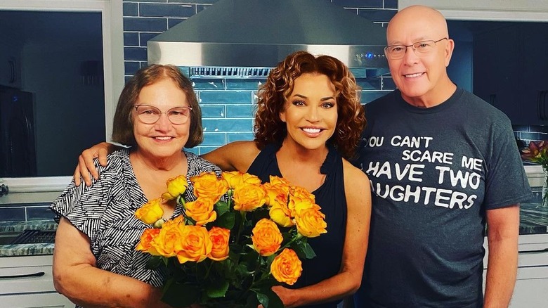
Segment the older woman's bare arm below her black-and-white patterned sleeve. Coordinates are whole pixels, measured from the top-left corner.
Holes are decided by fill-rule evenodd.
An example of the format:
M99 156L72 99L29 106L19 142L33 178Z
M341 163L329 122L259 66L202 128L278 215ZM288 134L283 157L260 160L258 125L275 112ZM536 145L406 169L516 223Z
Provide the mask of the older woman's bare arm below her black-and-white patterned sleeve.
M90 240L61 218L53 251L53 285L84 307L169 307L158 288L135 278L98 269Z

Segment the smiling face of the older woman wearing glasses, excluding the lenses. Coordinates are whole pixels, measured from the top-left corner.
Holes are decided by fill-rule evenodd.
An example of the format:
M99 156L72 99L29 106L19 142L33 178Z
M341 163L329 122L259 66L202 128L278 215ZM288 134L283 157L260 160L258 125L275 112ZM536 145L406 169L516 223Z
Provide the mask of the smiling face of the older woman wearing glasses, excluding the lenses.
M158 108L162 115L154 124L145 124L138 119L133 108L131 116L137 150L151 158L179 155L188 141L190 122L193 119L189 118L184 124L172 124L165 112L171 108L189 106L185 92L172 79L162 78L141 89L135 105L141 104Z

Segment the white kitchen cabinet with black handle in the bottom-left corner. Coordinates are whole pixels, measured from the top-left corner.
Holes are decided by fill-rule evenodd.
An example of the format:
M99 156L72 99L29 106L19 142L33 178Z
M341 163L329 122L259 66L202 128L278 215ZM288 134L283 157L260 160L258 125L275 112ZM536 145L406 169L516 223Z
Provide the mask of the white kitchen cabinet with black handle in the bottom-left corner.
M52 261L51 255L0 257L2 307L74 307L53 287Z

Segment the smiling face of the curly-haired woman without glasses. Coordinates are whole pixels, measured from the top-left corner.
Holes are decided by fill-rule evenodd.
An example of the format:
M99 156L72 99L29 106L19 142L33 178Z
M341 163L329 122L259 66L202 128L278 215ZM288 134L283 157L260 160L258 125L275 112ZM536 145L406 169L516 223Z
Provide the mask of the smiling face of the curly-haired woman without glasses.
M297 77L280 120L287 127L285 142L307 150L325 148L337 127L335 86L322 74Z

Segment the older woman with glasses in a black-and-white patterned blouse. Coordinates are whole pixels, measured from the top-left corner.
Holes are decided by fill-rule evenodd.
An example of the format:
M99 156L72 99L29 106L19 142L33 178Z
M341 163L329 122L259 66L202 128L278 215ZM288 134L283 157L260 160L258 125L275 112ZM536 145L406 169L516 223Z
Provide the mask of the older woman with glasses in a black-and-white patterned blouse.
M162 195L166 181L184 174L220 170L181 150L203 139L200 106L191 82L178 68L152 65L124 87L114 118L112 140L124 148L97 165L91 186L67 189L51 205L60 218L53 254L56 289L78 305L164 307L159 302L162 272L146 269L148 254L135 250L150 227L134 212ZM185 193L193 200L193 188ZM181 214L162 200L164 219Z

